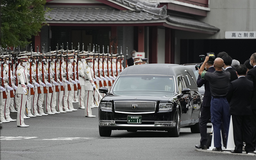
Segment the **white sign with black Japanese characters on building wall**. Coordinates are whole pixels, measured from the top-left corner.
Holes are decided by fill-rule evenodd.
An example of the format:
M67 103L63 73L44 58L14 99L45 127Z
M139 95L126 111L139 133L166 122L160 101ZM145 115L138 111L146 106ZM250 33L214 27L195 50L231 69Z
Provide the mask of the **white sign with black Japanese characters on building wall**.
M226 39L256 39L255 31L226 31Z

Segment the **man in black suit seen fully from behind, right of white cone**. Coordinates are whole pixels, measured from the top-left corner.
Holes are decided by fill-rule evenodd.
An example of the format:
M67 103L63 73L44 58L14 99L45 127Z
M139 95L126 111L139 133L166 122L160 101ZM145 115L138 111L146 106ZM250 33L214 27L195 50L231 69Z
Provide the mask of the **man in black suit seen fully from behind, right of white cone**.
M243 138L246 143L246 153L253 152L254 149L252 146L250 119L252 114L253 82L245 78L246 72L247 68L245 65L242 64L236 67L238 79L229 84L227 92L227 100L230 106L229 113L232 115L236 145L235 150L232 150L231 153L242 153L244 146Z

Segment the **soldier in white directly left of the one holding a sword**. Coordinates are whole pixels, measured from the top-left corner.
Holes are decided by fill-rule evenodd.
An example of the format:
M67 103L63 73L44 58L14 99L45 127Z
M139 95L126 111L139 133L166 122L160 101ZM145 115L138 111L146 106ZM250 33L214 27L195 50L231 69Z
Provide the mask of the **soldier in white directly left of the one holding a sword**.
M81 89L78 90L78 108L84 109L84 96L85 96L85 73L84 68L88 68L85 63L85 53L79 52L79 61L78 61L78 74Z

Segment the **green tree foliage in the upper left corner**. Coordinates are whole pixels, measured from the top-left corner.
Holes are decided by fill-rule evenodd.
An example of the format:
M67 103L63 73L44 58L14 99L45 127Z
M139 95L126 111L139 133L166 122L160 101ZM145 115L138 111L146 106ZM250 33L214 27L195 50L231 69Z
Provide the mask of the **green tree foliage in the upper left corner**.
M25 47L45 25L46 0L2 0L1 45Z

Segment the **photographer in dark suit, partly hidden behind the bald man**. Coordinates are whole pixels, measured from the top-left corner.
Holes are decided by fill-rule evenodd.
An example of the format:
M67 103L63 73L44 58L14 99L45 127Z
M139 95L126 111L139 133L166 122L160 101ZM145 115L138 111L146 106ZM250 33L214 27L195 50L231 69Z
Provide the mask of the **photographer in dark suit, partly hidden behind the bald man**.
M213 67L213 61L208 61L206 63L206 72L215 72L215 68ZM209 119L211 118L211 100L212 100L212 94L210 90L210 84L209 81L206 79L202 79L199 75L197 78L197 86L202 87L204 85L204 99L203 104L201 107L201 116L199 121L199 127L200 127L200 135L201 140L200 144L196 145L195 147L197 149L207 149L206 142L207 142L207 123Z

